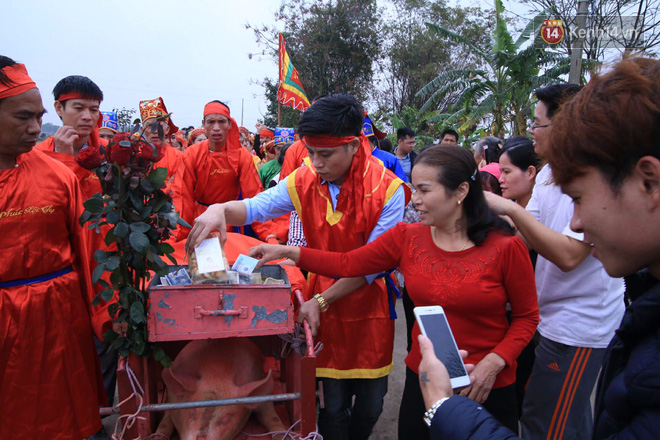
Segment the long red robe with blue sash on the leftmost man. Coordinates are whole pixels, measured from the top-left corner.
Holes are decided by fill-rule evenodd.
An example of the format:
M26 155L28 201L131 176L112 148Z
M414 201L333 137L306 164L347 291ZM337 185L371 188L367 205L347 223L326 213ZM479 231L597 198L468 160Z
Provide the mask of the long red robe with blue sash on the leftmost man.
M80 440L107 403L92 340L83 195L63 164L32 151L0 171L0 438Z

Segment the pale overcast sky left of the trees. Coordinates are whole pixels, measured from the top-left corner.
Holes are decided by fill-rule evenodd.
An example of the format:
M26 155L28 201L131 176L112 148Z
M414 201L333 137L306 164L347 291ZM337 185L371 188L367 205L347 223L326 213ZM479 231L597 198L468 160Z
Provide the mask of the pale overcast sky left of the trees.
M251 24L272 24L279 0L31 0L3 4L0 55L24 63L41 90L48 114L60 124L52 90L68 75L84 75L105 95L101 110L135 108L162 96L174 123L199 126L204 104L226 102L232 116L254 131L266 111L255 84L277 78L260 53Z

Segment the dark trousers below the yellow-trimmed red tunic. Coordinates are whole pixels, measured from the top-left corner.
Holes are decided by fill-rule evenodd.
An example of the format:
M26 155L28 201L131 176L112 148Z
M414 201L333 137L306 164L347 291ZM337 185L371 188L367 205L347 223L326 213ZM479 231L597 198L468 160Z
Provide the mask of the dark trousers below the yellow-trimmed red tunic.
M367 440L383 412L387 378L329 379L323 384L319 433L325 440Z

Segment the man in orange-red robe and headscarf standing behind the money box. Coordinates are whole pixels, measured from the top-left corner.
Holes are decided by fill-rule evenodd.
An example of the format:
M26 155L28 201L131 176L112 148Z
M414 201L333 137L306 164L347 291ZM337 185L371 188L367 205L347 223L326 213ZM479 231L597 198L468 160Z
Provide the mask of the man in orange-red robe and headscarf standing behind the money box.
M185 151L174 185L174 206L189 224L214 203L254 197L264 189L252 154L241 146L229 107L209 102L202 124L208 139ZM252 229L267 240L271 224L255 223ZM177 240L185 239L189 231L179 227Z

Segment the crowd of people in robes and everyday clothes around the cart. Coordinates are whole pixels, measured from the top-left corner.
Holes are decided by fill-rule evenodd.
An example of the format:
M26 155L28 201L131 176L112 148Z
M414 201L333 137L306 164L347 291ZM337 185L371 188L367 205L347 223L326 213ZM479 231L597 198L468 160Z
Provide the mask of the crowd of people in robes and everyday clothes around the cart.
M343 93L315 99L295 130L254 134L222 101L180 130L161 98L143 100L129 134L162 154L165 190L192 225L172 244L240 232L279 243L250 251L260 264L309 272L297 319L324 347L324 438L367 439L378 421L399 290L399 439L657 438L660 62L626 59L534 96L529 137L474 146L447 129L417 148L404 127L391 148ZM103 333L122 327L92 306L105 244L78 219L101 185L78 157L119 124L89 78L63 78L53 98L62 126L37 143L40 91L0 57L0 438L101 439L117 365ZM465 388L412 317L430 305L465 350Z

